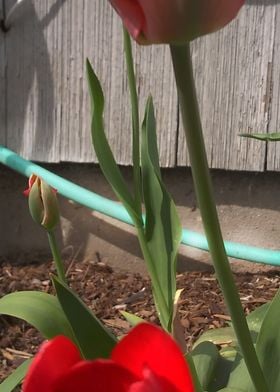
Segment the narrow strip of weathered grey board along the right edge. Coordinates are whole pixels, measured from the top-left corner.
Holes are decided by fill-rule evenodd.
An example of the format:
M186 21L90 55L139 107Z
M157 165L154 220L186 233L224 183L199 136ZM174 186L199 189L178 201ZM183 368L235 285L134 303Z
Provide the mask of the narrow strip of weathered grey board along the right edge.
M280 4L275 4L273 59L270 62L266 100L269 105L268 132L280 132ZM267 145L267 170L280 170L280 144Z

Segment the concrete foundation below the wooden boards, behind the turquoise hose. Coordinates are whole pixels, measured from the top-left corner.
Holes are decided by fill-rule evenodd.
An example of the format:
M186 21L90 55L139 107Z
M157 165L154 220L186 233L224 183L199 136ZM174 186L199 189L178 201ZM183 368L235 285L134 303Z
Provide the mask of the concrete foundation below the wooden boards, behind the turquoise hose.
M115 199L95 165L44 165L47 169L105 197ZM131 168L122 168L131 183ZM225 240L280 248L280 182L278 173L212 171L218 213ZM203 232L189 169L163 170L184 227ZM0 258L12 262L43 262L51 257L46 233L31 219L22 191L27 179L0 167ZM135 230L114 219L59 197L57 229L67 260L100 259L117 269L145 272ZM209 268L208 252L181 246L179 271ZM260 264L232 261L237 270L267 270Z

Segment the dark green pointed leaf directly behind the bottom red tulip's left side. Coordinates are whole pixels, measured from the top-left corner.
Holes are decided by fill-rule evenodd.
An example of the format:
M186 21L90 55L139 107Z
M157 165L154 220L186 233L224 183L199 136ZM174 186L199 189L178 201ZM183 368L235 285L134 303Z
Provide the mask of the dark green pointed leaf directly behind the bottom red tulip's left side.
M52 280L82 356L85 359L108 358L117 339L68 286L55 276Z

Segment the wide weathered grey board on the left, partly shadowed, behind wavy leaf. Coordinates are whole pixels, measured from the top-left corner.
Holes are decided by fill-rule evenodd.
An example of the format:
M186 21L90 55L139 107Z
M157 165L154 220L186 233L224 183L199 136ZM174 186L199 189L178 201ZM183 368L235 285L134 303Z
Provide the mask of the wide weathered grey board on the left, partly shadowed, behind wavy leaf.
M41 161L93 161L88 57L105 91L106 131L116 159L131 162L122 27L108 2L25 1L6 41L8 147ZM145 48L137 52L136 62L142 113L144 99L152 93L161 108L162 164L174 166L177 135L170 129L176 131L177 102L167 55L164 47Z

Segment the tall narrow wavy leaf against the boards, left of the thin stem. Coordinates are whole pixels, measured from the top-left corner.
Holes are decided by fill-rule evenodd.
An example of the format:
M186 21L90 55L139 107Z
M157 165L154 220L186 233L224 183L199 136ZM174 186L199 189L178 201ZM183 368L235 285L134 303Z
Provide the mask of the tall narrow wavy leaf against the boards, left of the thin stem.
M91 125L92 142L98 162L104 176L107 178L117 197L127 209L132 220L141 224L142 216L137 213L137 206L127 188L120 169L117 166L104 132L104 95L102 87L88 60L86 65L93 113Z

